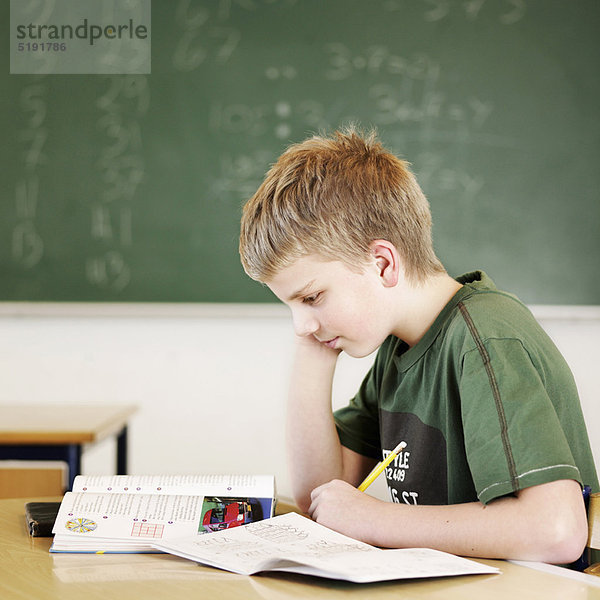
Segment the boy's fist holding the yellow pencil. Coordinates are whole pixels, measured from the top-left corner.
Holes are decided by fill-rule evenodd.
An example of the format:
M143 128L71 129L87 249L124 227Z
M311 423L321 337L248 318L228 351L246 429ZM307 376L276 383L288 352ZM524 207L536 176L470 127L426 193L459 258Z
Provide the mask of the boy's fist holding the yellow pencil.
M356 540L372 543L374 518L383 503L355 487L334 479L311 493L308 513L317 523Z

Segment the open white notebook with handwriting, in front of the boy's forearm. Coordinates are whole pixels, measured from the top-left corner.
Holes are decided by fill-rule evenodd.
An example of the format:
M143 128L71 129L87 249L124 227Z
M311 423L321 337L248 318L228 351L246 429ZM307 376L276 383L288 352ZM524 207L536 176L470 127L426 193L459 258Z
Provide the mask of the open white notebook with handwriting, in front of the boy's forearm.
M164 540L153 545L164 552L242 575L288 571L369 583L498 572L494 567L427 548L375 548L296 513L209 536Z

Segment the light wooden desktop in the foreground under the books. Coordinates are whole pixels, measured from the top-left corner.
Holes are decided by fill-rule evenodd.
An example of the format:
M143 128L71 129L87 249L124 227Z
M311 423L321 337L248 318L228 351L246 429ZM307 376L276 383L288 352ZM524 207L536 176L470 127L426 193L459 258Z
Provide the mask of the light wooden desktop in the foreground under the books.
M51 499L50 499L51 500ZM36 600L515 600L600 598L600 588L504 561L499 575L357 585L286 573L246 577L167 554L49 554L50 538L30 538L25 499L0 500L0 598ZM591 575L587 577L592 577Z

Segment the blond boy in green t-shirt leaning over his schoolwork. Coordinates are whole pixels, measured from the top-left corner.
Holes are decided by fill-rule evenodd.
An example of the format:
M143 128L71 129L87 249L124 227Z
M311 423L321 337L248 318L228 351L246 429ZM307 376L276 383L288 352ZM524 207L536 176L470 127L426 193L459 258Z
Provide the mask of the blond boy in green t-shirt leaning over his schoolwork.
M407 164L374 134L291 146L244 207L240 254L292 311L287 419L298 506L382 547L567 563L598 481L573 378L527 308L482 272L452 279ZM343 350L379 348L332 414ZM386 470L393 502L357 486Z

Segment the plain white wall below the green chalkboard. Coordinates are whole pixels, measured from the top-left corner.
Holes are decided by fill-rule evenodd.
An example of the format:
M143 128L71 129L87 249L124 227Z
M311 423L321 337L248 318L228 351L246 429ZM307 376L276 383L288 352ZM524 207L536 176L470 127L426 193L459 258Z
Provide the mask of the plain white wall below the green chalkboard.
M534 312L573 369L600 464L600 307ZM0 305L0 403L133 403L131 472L273 473L289 496L291 342L283 306ZM371 360L340 358L334 406ZM103 442L83 469L113 461Z

